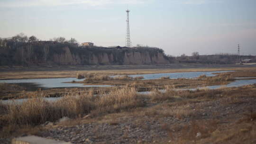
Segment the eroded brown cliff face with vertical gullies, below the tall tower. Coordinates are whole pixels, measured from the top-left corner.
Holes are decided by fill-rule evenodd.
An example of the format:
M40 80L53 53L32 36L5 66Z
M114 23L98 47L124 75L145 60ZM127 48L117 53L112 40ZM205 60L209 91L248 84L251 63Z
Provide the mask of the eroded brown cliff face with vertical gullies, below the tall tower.
M0 50L9 55L0 65L110 65L110 64L165 64L169 63L163 52L137 49L88 49L69 46L25 45L11 50ZM4 58L0 58L1 60ZM9 61L9 63L5 63Z

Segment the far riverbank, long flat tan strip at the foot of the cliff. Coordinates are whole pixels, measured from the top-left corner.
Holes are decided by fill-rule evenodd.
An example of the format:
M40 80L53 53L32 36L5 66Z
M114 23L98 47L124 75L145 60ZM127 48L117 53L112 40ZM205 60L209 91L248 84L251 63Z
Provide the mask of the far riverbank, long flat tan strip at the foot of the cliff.
M227 71L254 68L256 65L237 64L163 64L163 65L92 65L55 67L0 67L0 80L70 78L77 73L100 72L103 74L146 74L167 72Z

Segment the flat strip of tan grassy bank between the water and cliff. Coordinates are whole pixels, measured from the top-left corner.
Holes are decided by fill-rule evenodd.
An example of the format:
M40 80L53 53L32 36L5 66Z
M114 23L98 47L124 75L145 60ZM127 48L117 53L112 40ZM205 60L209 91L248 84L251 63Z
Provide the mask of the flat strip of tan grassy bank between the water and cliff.
M208 67L209 66L209 67ZM238 65L239 66L239 65ZM86 66L84 66L86 67ZM76 77L77 73L85 75L86 73L101 73L108 75L129 75L129 74L149 74L149 73L168 73L168 72L200 72L200 71L251 71L255 70L253 66L236 67L236 65L197 65L190 67L190 64L183 65L163 65L159 68L157 65L115 65L115 66L88 66L89 68L63 68L47 69L38 68L33 70L9 70L0 72L0 79L43 79L43 78L68 78ZM94 69L94 67L99 67ZM102 68L101 68L102 67ZM111 69L110 67L113 67Z

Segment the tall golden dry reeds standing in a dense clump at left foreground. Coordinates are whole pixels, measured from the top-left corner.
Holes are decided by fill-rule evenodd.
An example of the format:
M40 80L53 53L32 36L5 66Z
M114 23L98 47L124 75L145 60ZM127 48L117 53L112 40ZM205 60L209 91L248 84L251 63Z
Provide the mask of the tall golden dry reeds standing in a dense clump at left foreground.
M98 117L144 106L143 99L137 95L135 88L115 89L110 93L102 92L100 95L94 96L93 90L90 90L80 95L73 93L64 96L55 102L48 102L43 98L30 98L20 105L1 105L1 111L6 111L6 114L1 115L0 126L6 131L11 130L8 127L37 126L46 121L54 122L61 117L77 118L87 114Z

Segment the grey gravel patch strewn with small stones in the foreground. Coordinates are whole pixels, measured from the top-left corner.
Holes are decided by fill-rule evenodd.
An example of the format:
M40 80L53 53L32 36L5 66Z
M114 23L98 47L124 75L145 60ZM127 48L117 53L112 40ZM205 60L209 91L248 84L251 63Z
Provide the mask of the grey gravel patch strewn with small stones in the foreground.
M189 125L194 120L218 119L219 123L234 123L250 108L256 108L256 98L240 98L239 103L226 104L230 98L186 104L192 116L177 118L156 116L119 117L115 122L92 122L77 126L58 126L38 135L74 144L137 144L168 142L168 126Z

